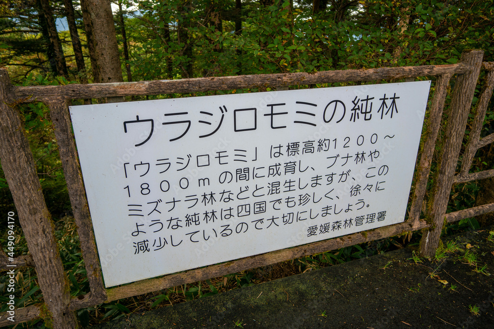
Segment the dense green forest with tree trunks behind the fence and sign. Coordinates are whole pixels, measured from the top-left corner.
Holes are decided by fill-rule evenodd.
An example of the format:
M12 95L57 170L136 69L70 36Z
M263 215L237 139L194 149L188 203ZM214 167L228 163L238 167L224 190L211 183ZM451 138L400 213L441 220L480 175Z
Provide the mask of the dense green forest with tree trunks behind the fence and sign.
M452 64L465 49L482 49L484 61L494 61L493 11L494 0L0 0L0 65L7 69L13 84L48 85ZM132 100L266 90L269 88ZM73 104L90 102L102 100L74 100ZM72 293L87 292L48 110L41 103L18 108L43 194L55 219ZM493 122L491 104L482 137L494 131ZM479 150L474 168L493 169L493 152L492 146ZM455 185L450 209L484 204L489 193L494 195L493 189L493 180ZM0 168L0 211L6 214L13 209ZM465 219L446 231L479 226L478 219ZM0 235L3 241L3 232ZM20 230L18 236L17 245L25 246ZM280 267L280 271L300 272L403 247L413 241L410 234L349 247L299 259L291 262L291 267ZM27 253L27 247L23 252ZM79 311L80 320L82 324L99 322L142 307L241 287L261 280L256 281L256 273L219 278L203 283L203 288L201 283L175 287L83 309ZM278 275L275 274L264 273L261 277L266 280ZM23 276L30 277L25 281L21 278L25 287L17 303L22 306L39 302L42 296L36 272L24 272ZM0 281L3 290L1 285Z

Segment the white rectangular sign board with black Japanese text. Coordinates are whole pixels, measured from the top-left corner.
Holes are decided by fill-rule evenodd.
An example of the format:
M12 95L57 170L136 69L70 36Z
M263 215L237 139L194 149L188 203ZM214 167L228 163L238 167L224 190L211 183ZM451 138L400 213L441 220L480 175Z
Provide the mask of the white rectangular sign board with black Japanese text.
M71 107L106 287L404 221L429 87Z

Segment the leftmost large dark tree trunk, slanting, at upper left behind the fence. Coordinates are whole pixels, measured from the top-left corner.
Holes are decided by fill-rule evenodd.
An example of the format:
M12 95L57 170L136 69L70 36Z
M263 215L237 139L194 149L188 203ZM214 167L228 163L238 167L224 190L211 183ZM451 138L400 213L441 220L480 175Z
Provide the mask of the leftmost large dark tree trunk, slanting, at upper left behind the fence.
M46 27L46 32L48 33L48 37L50 40L50 48L48 49L48 58L50 60L50 65L55 75L60 75L64 77L68 77L67 65L65 63L65 57L63 55L62 44L60 42L60 38L58 37L57 28L55 26L55 19L53 18L53 11L51 10L51 6L48 0L38 0L38 6L41 11L41 15L44 17L44 22L40 22L44 24ZM40 24L40 25L41 25ZM53 51L51 57L50 53ZM55 62L55 65L52 65L52 62Z

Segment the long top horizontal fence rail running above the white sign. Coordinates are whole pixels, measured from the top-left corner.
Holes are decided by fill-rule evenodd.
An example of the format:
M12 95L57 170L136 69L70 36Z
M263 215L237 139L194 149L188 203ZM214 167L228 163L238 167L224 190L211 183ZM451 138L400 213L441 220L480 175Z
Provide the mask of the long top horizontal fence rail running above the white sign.
M30 86L15 87L14 92L16 101L34 102L53 98L62 98L67 100L133 95L191 93L261 86L279 87L315 83L401 79L417 76L436 76L447 73L465 73L467 70L467 65L464 63L458 63L435 66L322 71L315 73L277 73L203 77L180 80L68 84L64 86Z

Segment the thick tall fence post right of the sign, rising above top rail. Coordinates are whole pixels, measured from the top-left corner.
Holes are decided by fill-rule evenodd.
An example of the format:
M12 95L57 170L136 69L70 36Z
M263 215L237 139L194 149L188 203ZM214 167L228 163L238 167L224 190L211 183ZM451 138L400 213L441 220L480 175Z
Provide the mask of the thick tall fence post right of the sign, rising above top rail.
M453 185L454 171L458 163L461 143L472 105L482 66L483 50L469 50L461 55L461 61L469 66L469 71L458 75L454 84L448 123L439 157L432 202L426 220L431 225L423 232L420 240L420 254L434 257L445 222L445 215Z

